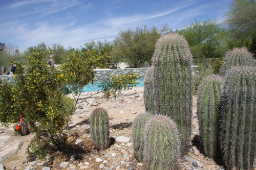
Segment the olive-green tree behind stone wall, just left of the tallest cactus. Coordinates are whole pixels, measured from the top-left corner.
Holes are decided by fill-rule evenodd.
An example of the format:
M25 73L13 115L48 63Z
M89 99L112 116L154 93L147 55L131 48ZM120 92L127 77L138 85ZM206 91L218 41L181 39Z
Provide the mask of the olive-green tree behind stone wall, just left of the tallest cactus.
M141 67L145 61L151 63L155 43L160 38L155 28L137 27L136 31L120 31L113 44L112 55L127 61L131 67Z

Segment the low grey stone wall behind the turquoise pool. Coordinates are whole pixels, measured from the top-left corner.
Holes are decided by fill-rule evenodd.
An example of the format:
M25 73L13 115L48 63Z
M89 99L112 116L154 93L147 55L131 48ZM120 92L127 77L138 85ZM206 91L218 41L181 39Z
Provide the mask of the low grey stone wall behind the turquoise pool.
M110 75L124 75L128 72L134 72L136 75L140 75L140 77L145 76L147 68L124 68L124 69L95 69L94 70L94 82L102 81L106 78L110 78ZM6 80L10 83L14 82L13 75L0 76L1 80Z

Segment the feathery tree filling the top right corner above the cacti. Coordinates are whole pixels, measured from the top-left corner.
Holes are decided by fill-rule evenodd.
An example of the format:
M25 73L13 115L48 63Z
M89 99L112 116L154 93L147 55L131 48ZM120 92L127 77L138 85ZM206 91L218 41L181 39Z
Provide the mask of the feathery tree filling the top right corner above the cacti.
M229 11L225 13L225 22L233 38L238 39L243 35L251 37L251 32L256 30L256 2L255 0L233 0Z

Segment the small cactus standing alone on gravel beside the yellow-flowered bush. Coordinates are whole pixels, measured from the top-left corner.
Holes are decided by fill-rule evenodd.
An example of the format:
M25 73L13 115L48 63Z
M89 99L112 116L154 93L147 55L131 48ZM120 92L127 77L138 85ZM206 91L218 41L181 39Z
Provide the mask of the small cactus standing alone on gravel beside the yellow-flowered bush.
M93 143L99 150L109 147L109 115L105 109L98 107L93 110L90 118L90 133Z

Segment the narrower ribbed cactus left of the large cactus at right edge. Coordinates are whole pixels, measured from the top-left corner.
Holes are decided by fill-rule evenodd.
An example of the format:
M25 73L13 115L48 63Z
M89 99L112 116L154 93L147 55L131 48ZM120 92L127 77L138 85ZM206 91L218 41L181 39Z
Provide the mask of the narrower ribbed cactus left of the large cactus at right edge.
M204 154L210 158L215 158L219 151L219 110L222 83L222 77L210 75L201 82L197 91L200 140Z

